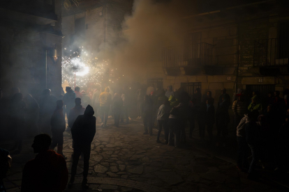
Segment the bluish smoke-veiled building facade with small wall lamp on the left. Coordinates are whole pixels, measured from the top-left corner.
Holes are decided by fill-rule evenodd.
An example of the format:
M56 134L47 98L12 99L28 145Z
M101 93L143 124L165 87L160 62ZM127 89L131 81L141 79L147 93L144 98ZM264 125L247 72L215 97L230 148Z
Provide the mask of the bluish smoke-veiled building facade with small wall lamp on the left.
M0 5L0 87L38 97L61 94L61 1L3 1Z

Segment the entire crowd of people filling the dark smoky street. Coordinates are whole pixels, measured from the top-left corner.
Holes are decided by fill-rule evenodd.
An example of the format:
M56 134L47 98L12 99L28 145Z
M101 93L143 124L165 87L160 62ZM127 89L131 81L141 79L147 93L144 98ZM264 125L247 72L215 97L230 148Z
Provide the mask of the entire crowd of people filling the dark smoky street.
M229 132L229 108L232 104L234 114L232 122L237 131L238 143L237 168L248 172L248 177L253 178L258 162L263 168L288 171L288 95L284 95L283 99L280 97L280 92L276 90L274 93L268 93L267 98L261 98L260 93L255 91L249 99L249 95L239 89L231 99L223 88L215 103L211 91L202 95L200 88L196 88L193 95L188 95L181 88L172 90L172 86L168 86L168 89L163 90L155 89L154 85L151 85L147 90L137 89L133 96L127 94L124 89L112 93L109 86L103 86L100 89L96 88L94 94L89 97L84 91L80 92L79 87L75 87L74 91L71 87L66 87L66 93L61 98L54 97L50 89L45 89L40 99L34 99L31 95L23 97L19 88L13 88L9 97L2 97L1 91L0 117L2 127L8 127L7 130L14 134L12 138L15 142L10 150L21 152L24 132L27 136L34 137L32 147L38 154L24 167L22 191L37 191L42 187L40 176L49 180L50 175L36 177L34 170L41 167L47 172L55 170L60 175L67 176L66 157L62 152L65 130L70 130L73 137L73 166L68 186L73 185L77 163L80 154L83 154L82 186L87 187L90 146L96 133L96 118L98 116L101 118L103 128L108 127L110 116L114 118L115 127L119 127L119 122L124 122L124 119L126 120L124 123L128 124L131 120L128 115L128 111L131 110L128 98L135 97L135 110L138 114L136 119L142 119L144 135L152 136L153 128L156 127L158 129L156 142L162 143L160 136L164 131L165 144L175 147L186 144L188 123L189 138L193 138L195 124L198 124L198 134L202 140L205 140L207 129L209 144L220 145L221 143L225 146ZM66 127L66 118L68 127ZM214 125L216 136L213 134ZM54 152L55 147L57 153ZM4 160L9 162L9 153L6 150L0 152L1 155L4 154ZM57 163L52 163L52 159ZM57 186L53 187L63 189L64 183L66 185L68 182L66 176L59 179L61 182L55 181ZM31 189L33 179L39 182L39 186L36 186L37 190ZM51 189L52 186L45 187Z

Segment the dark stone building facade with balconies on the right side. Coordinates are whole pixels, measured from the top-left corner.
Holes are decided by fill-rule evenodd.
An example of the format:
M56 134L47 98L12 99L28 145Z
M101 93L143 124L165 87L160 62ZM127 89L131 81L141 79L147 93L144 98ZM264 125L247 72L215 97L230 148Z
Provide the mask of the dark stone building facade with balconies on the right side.
M163 48L162 63L151 67L147 82L183 87L191 95L200 87L215 98L222 88L230 95L237 88L259 90L264 97L271 90L283 93L289 78L288 2L221 6L183 18L190 38L184 46Z

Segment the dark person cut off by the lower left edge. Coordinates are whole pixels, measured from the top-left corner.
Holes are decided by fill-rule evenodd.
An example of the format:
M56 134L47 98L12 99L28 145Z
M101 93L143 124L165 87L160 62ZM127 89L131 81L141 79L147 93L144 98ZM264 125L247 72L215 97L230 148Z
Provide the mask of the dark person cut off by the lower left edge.
M3 184L3 179L7 176L7 172L11 167L12 158L8 150L0 148L0 191L6 192L5 186Z

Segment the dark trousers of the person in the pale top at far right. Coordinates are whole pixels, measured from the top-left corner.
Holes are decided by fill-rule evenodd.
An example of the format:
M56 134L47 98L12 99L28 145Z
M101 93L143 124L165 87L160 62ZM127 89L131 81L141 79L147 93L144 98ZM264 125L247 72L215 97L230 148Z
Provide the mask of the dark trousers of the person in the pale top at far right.
M237 166L239 168L249 168L248 163L248 144L246 138L242 136L237 136L238 142L238 156L237 156Z

